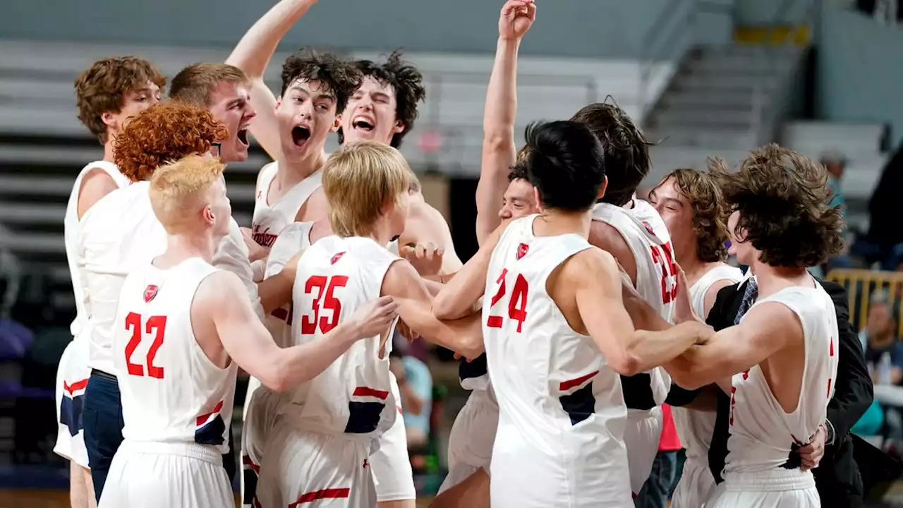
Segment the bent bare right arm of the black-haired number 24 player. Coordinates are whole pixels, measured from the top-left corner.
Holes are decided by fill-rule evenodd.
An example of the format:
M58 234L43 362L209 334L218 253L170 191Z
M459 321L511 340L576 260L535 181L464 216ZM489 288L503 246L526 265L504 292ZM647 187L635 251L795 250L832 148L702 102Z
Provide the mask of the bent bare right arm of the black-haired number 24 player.
M648 371L710 334L707 326L695 322L656 332L635 330L624 308L618 264L600 249L586 249L573 256L559 278L573 286L586 331L619 374Z

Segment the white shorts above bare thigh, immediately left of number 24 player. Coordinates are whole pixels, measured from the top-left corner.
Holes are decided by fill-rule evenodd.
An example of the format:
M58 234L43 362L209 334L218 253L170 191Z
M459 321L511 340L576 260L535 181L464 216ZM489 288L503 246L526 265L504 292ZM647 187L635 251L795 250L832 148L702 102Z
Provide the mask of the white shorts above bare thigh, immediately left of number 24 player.
M466 480L480 467L489 473L498 428L498 403L489 390L471 391L454 419L449 435L449 474L439 487L440 494Z

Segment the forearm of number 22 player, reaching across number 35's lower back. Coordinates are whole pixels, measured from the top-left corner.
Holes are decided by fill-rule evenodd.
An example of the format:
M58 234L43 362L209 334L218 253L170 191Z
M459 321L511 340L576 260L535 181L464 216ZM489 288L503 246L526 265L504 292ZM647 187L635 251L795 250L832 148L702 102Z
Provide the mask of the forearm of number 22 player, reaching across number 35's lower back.
M361 338L358 325L341 323L310 343L283 349L274 369L278 378L277 386L267 388L285 391L305 381L311 381Z

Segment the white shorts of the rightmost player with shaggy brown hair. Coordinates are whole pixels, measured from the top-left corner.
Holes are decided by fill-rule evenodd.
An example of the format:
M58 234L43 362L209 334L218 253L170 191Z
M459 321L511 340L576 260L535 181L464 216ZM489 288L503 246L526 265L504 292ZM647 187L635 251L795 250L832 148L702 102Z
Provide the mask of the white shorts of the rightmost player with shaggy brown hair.
M820 508L812 473L782 469L749 473L725 481L712 491L705 508Z

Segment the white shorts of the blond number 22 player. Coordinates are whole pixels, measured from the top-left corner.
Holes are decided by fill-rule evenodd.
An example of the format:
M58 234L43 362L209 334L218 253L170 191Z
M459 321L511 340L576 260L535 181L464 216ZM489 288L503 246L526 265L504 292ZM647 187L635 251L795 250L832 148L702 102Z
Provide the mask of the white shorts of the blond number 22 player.
M123 441L98 508L209 508L234 503L222 455L215 447Z

